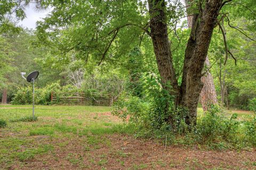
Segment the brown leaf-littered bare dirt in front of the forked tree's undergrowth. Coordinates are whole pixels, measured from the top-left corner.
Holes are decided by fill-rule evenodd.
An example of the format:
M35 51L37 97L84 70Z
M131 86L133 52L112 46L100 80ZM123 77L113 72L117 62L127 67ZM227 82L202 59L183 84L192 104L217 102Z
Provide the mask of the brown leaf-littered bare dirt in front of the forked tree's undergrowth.
M44 142L48 138L41 138ZM86 137L51 141L54 151L11 169L256 169L256 150L213 151L164 146L127 135L105 135L100 142Z

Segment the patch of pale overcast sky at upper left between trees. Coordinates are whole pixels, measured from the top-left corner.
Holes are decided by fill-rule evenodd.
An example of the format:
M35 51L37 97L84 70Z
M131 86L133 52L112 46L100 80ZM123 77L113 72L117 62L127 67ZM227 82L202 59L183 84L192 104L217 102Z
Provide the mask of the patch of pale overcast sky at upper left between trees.
M35 7L34 3L30 3L29 6L26 7L26 15L27 18L24 19L23 21L19 22L19 25L22 25L22 27L27 27L30 29L35 29L36 28L36 21L42 20L48 13L51 12L50 9L48 10L43 10L43 11L38 11Z

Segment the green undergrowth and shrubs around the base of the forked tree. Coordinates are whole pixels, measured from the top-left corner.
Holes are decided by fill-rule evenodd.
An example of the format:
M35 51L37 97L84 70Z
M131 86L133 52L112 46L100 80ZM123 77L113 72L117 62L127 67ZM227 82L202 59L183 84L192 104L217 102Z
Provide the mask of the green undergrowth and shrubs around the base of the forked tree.
M158 80L149 81L145 83L144 98L124 94L111 112L124 123L129 118L128 124L134 126L137 137L213 149L256 147L255 114L241 121L237 114L229 116L212 106L197 116L196 126L189 126L185 123L187 109L175 108L173 97L157 85Z

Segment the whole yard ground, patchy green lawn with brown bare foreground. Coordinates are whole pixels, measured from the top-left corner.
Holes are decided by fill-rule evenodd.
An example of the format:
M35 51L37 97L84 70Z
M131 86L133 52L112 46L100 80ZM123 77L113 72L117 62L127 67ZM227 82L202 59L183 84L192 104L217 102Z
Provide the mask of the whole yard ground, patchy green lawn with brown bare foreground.
M199 113L200 113L199 109ZM0 169L256 169L256 150L204 150L135 139L102 106L0 105ZM242 113L241 113L242 114Z

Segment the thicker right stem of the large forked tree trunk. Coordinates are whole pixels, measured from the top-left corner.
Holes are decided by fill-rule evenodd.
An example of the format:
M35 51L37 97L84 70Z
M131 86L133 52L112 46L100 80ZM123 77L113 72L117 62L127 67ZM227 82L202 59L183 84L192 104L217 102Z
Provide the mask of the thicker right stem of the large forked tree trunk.
M202 70L222 0L207 1L204 9L194 14L185 52L180 89L180 105L188 109L186 123L196 125L197 104L203 88Z

